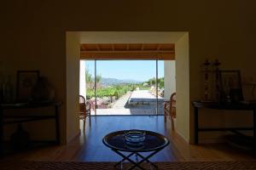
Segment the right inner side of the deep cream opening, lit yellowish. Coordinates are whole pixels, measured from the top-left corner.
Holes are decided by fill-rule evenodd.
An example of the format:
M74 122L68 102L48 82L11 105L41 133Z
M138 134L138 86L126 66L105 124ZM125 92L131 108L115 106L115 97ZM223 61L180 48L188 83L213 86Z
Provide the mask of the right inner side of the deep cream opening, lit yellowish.
M177 75L176 131L189 142L189 33L175 43Z

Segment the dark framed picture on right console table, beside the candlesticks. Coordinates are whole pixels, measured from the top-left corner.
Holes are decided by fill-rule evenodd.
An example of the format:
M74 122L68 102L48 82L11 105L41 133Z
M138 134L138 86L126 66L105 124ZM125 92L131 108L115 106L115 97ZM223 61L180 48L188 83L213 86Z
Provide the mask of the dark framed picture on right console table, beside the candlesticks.
M239 102L243 100L241 87L241 72L219 71L221 100L225 102Z

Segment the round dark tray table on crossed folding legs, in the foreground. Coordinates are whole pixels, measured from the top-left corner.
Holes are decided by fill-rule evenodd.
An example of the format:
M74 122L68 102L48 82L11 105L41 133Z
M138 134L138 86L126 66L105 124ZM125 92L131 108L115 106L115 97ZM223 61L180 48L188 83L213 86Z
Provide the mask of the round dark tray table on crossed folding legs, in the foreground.
M132 132L140 133L142 136L131 135L131 139L127 138L128 134ZM170 143L169 140L160 133L137 129L108 133L102 139L102 142L119 156L123 157L123 159L117 162L114 167L121 165L122 168L123 161L127 160L132 163L132 166L129 169L133 169L135 167L144 169L141 166L144 161L147 161L151 166L157 169L157 165L152 161L149 161L149 158L154 156L160 150L163 150ZM124 152L128 152L129 154L125 155ZM142 152L148 152L148 156L143 156L141 154ZM136 156L136 160L132 160L131 156ZM138 157L140 157L140 161Z

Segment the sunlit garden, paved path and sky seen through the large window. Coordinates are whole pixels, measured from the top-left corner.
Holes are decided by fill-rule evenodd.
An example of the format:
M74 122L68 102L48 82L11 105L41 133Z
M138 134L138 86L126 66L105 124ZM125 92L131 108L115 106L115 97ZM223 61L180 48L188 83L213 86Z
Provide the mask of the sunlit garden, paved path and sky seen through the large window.
M163 115L164 60L83 60L92 115Z

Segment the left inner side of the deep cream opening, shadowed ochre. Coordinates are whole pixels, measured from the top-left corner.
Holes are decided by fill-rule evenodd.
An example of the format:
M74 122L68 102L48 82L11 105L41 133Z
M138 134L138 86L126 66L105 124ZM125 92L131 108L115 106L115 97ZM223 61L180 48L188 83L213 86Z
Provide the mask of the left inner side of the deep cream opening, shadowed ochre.
M77 32L66 33L67 53L67 143L79 134L79 56Z

